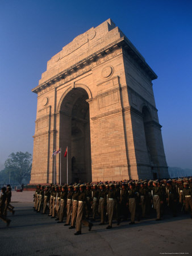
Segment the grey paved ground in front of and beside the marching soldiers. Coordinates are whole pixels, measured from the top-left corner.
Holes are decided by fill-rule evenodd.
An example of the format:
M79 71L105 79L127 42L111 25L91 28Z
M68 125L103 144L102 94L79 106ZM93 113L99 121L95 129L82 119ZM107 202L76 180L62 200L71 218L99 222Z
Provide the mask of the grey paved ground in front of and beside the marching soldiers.
M32 210L31 200L34 192L13 192L12 203L15 215L9 218L11 224L6 228L0 222L0 248L3 255L139 255L155 256L177 253L192 255L192 220L189 215L177 218L165 216L161 222L154 219L143 220L130 226L122 222L113 229L98 226L93 231L85 226L81 236L74 236L55 219ZM23 202L22 202L23 201Z

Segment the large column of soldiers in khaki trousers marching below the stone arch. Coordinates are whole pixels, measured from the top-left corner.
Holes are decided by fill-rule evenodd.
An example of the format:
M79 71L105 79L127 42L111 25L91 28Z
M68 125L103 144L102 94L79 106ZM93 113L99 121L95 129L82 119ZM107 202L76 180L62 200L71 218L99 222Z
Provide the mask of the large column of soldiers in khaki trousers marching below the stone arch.
M189 212L192 219L192 179L172 180L129 180L120 183L49 185L38 184L34 195L34 210L56 218L57 223L64 222L69 229L76 228L75 235L81 234L84 224L93 226L99 218L99 225L112 228L112 220L120 221L131 218L135 220L150 216L156 210L156 221L162 220L164 209L169 208L173 217L177 213ZM91 218L90 218L91 217Z

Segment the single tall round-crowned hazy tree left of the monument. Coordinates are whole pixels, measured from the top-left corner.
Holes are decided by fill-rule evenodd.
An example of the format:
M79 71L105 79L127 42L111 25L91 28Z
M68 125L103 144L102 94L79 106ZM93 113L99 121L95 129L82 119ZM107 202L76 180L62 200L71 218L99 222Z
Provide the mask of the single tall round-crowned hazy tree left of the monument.
M11 172L11 177L22 184L23 179L29 180L31 176L31 154L28 152L11 153L5 161L6 173Z

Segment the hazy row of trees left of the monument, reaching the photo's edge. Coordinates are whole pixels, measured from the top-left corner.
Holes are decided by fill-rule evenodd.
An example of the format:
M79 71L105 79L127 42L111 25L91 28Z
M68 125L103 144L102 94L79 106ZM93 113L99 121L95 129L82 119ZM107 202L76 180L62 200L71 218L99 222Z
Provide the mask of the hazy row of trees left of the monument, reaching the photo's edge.
M29 183L32 156L28 152L11 153L5 161L5 169L0 171L0 183Z

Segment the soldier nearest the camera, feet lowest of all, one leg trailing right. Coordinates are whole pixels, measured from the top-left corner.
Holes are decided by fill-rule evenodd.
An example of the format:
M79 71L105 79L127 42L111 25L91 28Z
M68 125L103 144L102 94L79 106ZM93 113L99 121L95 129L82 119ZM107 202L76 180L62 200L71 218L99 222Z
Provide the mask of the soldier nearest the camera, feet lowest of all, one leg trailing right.
M85 203L86 203L86 193L85 193L85 185L80 185L80 194L78 196L78 210L77 210L77 219L76 219L76 230L74 233L76 236L81 234L81 225L89 226L89 231L93 224L90 221L85 220Z

